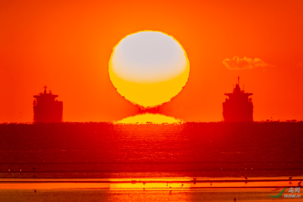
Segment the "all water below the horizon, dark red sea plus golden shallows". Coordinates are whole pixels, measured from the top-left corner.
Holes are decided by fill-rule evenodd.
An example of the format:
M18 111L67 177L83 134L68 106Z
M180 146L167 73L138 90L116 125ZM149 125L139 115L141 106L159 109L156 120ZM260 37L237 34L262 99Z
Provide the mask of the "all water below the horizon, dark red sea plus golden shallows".
M0 124L0 201L271 201L272 187L302 179L302 129L303 122Z

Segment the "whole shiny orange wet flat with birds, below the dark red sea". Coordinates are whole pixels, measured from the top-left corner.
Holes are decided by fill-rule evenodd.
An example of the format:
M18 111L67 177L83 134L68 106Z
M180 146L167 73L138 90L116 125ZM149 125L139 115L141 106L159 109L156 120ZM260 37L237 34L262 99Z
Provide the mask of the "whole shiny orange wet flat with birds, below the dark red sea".
M285 198L303 177L3 179L0 201L303 201ZM277 187L287 187L275 190ZM301 188L301 187L300 187ZM272 191L274 190L274 191ZM282 191L278 198L276 196ZM268 194L268 195L267 195Z

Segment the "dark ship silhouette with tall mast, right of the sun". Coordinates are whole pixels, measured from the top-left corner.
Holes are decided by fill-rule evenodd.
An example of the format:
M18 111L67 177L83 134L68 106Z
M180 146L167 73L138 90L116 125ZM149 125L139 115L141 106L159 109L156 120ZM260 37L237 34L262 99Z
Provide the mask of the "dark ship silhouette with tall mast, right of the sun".
M223 118L225 121L246 122L253 121L253 108L251 98L252 93L244 93L239 87L240 81L238 77L238 83L232 93L224 93L228 96L223 104Z

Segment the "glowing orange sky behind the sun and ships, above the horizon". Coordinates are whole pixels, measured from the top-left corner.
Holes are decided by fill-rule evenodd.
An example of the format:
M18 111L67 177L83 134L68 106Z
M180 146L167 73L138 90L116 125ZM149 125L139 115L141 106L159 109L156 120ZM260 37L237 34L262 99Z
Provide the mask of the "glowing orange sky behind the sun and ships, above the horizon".
M108 76L119 40L140 30L174 36L190 61L183 91L161 112L184 121L221 121L237 76L254 93L254 120L303 120L302 1L0 2L0 122L31 122L46 84L63 119L113 121L138 108ZM269 65L230 70L234 56Z

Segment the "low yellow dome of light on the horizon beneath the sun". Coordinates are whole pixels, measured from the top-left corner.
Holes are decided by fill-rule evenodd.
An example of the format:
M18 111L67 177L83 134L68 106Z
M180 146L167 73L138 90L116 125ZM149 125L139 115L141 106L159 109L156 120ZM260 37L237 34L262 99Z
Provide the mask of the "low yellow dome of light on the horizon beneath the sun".
M136 116L129 116L127 118L124 118L120 121L116 121L114 123L126 123L126 124L169 123L171 124L171 123L183 123L183 121L171 116L165 116L163 114L145 113Z

